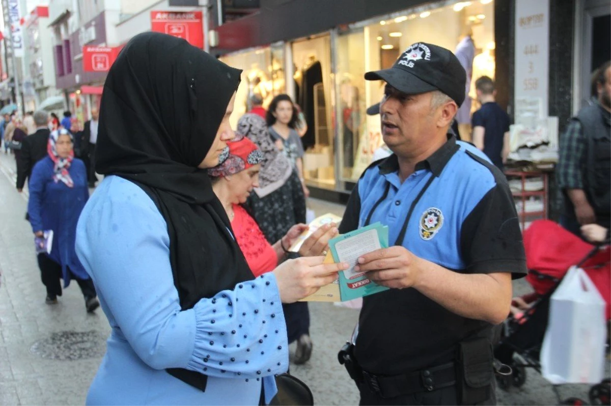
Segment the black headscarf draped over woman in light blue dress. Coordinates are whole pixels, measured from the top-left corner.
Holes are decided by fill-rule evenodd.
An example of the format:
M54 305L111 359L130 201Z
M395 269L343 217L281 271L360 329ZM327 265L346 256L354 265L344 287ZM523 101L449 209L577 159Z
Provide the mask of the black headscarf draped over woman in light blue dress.
M183 310L254 277L207 171L197 168L240 73L185 40L147 32L123 48L104 84L95 169L131 180L155 201ZM168 372L205 390L202 374Z

